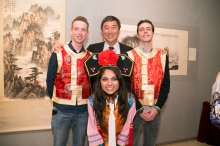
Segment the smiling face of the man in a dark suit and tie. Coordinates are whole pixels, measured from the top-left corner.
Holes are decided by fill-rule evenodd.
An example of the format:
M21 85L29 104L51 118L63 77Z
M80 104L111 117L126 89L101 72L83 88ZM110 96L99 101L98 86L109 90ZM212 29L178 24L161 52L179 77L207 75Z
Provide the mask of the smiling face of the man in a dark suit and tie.
M107 21L102 26L102 36L110 46L114 46L116 44L118 41L119 33L120 29L115 20Z

